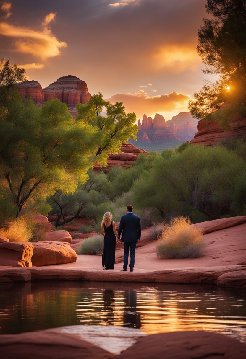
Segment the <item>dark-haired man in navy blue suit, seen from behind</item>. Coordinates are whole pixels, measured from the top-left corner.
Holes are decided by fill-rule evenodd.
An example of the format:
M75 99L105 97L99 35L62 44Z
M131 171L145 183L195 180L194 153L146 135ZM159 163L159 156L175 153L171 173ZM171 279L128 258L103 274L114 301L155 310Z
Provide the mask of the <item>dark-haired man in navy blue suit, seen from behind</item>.
M118 229L118 243L124 243L124 261L123 271L127 270L128 256L130 251L130 272L133 271L135 262L135 249L136 244L141 238L141 223L140 218L132 213L133 207L127 206L127 214L121 216L120 225ZM122 232L123 231L123 232ZM120 241L120 234L121 241Z

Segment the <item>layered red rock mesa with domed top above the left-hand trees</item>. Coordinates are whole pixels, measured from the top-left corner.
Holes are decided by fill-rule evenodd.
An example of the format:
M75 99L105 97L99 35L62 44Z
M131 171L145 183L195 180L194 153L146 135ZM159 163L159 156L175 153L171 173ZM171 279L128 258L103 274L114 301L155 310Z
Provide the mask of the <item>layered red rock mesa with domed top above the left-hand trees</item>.
M44 89L37 81L22 82L18 85L18 89L22 93L23 99L30 96L37 106L42 105L46 100L58 98L68 105L69 111L74 115L77 111L76 105L78 103L85 104L91 98L85 81L73 75L60 77Z

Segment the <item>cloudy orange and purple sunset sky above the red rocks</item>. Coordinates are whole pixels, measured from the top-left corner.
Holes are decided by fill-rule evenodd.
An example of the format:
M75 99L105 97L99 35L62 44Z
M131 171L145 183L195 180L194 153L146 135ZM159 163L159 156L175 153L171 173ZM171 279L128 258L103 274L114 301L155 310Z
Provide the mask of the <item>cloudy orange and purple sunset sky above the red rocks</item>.
M122 101L127 112L170 120L202 87L196 53L205 0L0 1L0 58L43 88L65 75Z

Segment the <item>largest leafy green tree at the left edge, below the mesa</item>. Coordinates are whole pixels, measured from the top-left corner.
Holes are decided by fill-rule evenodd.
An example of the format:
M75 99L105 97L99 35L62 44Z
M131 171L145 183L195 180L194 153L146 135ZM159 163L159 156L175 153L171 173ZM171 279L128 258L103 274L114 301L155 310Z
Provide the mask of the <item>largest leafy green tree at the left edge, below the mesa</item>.
M67 194L87 180L97 129L76 122L66 104L49 100L40 109L12 92L0 118L1 201L10 201L16 218L27 207L47 213L55 189Z

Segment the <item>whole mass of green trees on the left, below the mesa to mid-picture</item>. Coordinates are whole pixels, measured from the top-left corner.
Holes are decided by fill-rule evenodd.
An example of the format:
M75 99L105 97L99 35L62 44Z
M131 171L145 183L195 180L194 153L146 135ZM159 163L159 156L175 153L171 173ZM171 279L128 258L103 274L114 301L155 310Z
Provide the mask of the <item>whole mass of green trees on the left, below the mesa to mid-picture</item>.
M58 99L36 107L31 99L23 102L15 87L24 74L9 60L0 61L0 227L23 212L47 214L53 203L59 208L58 227L85 208L90 213L100 201L98 188L77 187L95 162L105 164L108 153L135 136L136 115L120 102L104 101L102 94L79 104L77 118ZM53 203L46 201L50 196ZM68 211L72 218L65 218Z

